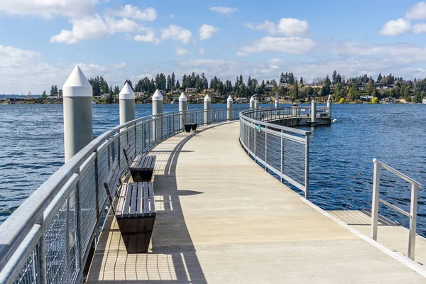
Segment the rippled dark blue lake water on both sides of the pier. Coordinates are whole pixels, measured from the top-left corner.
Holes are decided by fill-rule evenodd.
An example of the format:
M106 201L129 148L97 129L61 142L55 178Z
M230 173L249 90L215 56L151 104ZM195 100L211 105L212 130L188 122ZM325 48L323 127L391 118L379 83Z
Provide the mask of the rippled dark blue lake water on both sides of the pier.
M272 106L272 105L271 105ZM202 104L190 104L202 109ZM225 104L212 104L214 108ZM235 105L244 107L244 105ZM266 105L261 105L266 107ZM312 131L310 200L323 209L371 209L373 158L426 186L426 105L334 104L332 126ZM164 111L177 111L165 104ZM136 105L136 117L151 104ZM119 124L119 105L94 106L94 136ZM64 161L62 105L0 105L0 223ZM382 170L381 197L409 211L410 186ZM420 189L417 231L426 236L426 190ZM408 218L381 207L408 225Z

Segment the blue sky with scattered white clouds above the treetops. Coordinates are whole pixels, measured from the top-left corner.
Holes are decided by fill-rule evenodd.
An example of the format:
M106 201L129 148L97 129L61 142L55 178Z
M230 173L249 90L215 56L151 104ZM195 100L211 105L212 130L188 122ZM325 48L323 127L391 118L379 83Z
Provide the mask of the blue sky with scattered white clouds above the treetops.
M349 4L350 3L350 4ZM426 77L426 1L0 0L0 94L205 72Z

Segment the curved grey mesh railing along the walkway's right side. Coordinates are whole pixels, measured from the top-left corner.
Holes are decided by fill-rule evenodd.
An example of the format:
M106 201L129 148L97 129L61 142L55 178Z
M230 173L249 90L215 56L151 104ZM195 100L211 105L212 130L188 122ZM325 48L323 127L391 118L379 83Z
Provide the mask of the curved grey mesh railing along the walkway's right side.
M240 142L265 170L271 170L282 182L290 182L308 198L310 132L266 122L297 117L293 111L291 107L242 111Z

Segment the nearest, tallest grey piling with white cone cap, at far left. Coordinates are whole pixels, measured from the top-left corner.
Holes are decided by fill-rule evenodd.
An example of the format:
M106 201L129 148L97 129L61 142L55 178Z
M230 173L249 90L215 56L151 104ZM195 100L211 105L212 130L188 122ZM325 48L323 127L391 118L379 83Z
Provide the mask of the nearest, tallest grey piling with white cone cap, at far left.
M93 88L80 67L76 66L62 92L66 163L93 140Z

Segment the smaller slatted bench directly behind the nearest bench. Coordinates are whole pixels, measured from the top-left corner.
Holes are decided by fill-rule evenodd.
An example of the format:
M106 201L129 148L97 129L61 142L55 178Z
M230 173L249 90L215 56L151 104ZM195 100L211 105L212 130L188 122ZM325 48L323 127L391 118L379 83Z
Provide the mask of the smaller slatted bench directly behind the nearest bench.
M136 155L136 148L134 145L129 145L127 150L123 149L123 152L133 182L150 181L153 176L155 159L157 157L155 155Z

